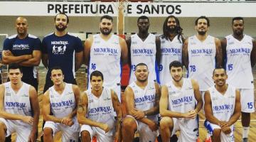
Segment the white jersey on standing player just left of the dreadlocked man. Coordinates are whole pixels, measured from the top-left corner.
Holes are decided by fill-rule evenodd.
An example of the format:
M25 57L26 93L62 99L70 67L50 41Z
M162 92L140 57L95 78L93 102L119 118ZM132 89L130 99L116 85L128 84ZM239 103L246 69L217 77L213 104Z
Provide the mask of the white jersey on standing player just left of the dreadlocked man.
M149 68L149 80L156 80L156 35L149 33L144 41L137 34L131 35L130 48L132 67L129 84L136 80L135 66L141 62Z

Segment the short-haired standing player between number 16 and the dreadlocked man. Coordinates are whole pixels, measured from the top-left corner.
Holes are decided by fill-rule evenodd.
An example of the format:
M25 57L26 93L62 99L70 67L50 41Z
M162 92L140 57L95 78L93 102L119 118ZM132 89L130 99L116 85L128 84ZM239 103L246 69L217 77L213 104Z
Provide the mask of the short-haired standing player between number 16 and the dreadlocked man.
M131 73L129 84L136 81L135 66L144 63L149 67L149 80L159 82L158 65L161 58L160 38L149 33L149 18L140 16L137 20L139 33L127 39L129 65Z

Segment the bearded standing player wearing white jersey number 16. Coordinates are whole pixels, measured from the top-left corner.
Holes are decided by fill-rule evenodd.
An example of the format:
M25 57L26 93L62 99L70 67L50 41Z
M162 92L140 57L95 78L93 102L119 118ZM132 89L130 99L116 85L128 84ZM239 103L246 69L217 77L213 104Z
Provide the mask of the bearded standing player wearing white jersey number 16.
M100 34L85 40L85 65L89 67L89 74L95 70L102 72L105 77L103 86L113 89L121 101L121 70L127 62L127 44L123 38L114 35L112 29L113 18L102 16ZM88 86L90 89L90 84Z

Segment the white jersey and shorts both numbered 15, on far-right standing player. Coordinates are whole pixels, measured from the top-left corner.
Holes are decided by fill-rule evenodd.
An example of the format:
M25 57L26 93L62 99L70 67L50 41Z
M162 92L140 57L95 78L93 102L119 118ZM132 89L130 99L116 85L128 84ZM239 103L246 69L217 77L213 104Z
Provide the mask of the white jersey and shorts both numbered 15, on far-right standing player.
M225 37L226 47L226 70L228 74L227 83L240 89L241 111L252 113L254 107L254 84L250 54L252 52L252 38L244 35L241 41L233 35Z

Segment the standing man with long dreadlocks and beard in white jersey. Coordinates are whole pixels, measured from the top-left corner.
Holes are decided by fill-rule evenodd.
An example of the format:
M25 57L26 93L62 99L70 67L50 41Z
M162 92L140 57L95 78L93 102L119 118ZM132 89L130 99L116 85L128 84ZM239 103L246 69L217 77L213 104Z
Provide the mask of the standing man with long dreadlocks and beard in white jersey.
M159 65L159 80L161 85L171 81L170 62L174 60L182 62L182 45L185 40L182 36L182 30L178 18L175 16L168 16L164 21L164 34L160 36L161 62Z

